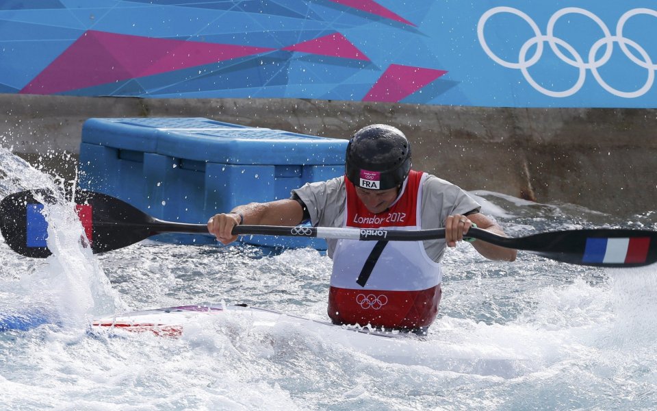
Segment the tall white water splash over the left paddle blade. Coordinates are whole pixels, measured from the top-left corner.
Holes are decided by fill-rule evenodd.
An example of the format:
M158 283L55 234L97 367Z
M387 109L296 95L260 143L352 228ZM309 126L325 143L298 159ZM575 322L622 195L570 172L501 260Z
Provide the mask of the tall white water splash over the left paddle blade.
M36 188L45 188L55 197L51 202L36 196L44 203L47 245L53 255L44 261L25 263L19 274L23 295L16 297L29 300L23 310L46 310L60 325L83 330L93 316L127 308L112 290L98 260L90 249L83 247L83 227L75 205L65 198L64 179L38 171L4 147L0 147L0 177L3 197Z

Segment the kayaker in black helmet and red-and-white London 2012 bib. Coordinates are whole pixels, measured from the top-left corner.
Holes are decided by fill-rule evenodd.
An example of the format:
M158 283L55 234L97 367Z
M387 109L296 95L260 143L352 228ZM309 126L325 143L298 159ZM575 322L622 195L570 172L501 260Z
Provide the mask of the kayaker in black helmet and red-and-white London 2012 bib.
M500 225L458 186L411 169L406 136L389 125L357 131L346 149L345 175L305 184L292 197L237 206L216 214L208 230L223 244L238 224L385 229L446 228L445 239L417 242L327 240L333 258L329 317L337 324L372 325L417 333L435 320L441 298L441 258L476 224L504 236ZM517 251L471 242L491 260Z

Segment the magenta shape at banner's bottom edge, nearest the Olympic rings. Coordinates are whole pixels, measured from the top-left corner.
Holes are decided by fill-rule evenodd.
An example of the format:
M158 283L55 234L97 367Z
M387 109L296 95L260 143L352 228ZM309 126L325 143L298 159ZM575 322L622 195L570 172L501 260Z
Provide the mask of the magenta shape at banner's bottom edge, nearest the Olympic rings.
M445 73L447 71L390 64L363 101L396 103Z

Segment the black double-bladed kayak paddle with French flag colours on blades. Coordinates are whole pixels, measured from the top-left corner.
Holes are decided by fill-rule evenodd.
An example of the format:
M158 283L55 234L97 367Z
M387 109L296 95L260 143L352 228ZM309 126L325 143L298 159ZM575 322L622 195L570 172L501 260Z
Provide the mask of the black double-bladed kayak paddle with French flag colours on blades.
M0 231L8 245L23 256L45 258L47 222L42 203L54 201L46 190L22 191L0 201ZM208 234L205 224L175 223L155 219L125 201L99 192L77 190L78 215L94 253L111 251L134 244L156 234ZM346 238L352 240L420 241L445 237L445 229L411 231L332 227L283 227L273 225L237 225L233 234ZM545 258L588 266L636 267L657 262L657 232L634 229L577 229L502 237L472 227L467 236L511 249L531 251Z

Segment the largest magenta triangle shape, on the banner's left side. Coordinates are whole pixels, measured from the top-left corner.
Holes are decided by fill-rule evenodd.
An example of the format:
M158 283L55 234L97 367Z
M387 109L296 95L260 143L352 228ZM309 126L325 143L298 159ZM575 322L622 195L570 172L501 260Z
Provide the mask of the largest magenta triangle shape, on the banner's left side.
M89 30L21 90L47 95L272 51Z

